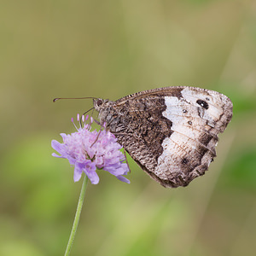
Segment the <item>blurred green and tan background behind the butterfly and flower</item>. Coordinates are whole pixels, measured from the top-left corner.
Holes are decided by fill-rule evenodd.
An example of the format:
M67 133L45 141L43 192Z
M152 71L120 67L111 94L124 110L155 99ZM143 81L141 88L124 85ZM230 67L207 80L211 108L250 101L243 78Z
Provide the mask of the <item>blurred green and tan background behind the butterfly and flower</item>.
M255 255L256 3L244 0L0 2L0 255L63 255L79 183L50 141L90 100L169 85L234 103L210 171L164 189L131 165L86 194L72 255Z

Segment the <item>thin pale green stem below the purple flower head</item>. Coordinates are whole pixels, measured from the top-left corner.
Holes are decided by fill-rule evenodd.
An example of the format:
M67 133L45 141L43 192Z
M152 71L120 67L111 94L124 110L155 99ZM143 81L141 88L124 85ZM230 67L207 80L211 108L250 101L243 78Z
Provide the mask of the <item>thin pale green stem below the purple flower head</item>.
M87 175L84 175L84 181L83 181L83 185L82 185L82 189L80 192L80 196L79 196L79 203L78 203L78 207L77 207L77 212L75 215L75 218L73 220L73 227L71 230L71 234L69 236L69 240L67 242L67 248L66 248L66 252L65 252L65 256L69 255L70 251L71 251L71 247L73 245L73 240L74 240L74 236L76 235L76 231L79 225L79 218L82 212L82 207L83 207L83 202L84 202L84 195L85 195L85 191L87 188L87 183L88 183L88 177Z

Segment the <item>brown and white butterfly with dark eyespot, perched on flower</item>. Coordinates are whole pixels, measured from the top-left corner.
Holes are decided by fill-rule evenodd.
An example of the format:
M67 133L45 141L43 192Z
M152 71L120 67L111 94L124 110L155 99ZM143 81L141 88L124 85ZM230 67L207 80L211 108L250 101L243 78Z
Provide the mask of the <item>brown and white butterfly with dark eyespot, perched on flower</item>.
M197 87L144 90L112 102L93 100L100 124L164 187L187 186L216 156L218 133L232 118L227 96Z

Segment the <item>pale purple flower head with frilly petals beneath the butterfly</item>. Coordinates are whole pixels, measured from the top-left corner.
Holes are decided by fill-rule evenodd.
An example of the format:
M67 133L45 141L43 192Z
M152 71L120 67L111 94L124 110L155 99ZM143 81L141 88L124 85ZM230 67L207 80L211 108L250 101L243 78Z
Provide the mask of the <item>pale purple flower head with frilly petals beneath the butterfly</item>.
M93 184L99 183L100 178L96 169L102 169L113 174L120 181L130 183L123 177L129 171L125 161L124 154L119 151L120 146L116 137L106 130L90 131L90 124L86 124L86 117L83 127L77 128L76 132L71 134L61 133L63 143L52 140L51 146L60 155L52 155L59 158L66 158L74 166L73 180L79 181L84 172ZM79 115L78 115L79 120ZM73 121L73 119L72 119ZM92 122L92 119L91 119Z

